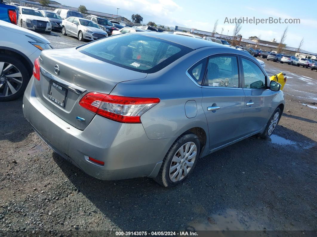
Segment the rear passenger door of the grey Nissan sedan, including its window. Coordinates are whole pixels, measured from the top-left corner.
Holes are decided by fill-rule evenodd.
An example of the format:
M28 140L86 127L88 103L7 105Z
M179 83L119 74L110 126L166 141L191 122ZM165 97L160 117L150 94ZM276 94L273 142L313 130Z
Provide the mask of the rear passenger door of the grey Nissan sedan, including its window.
M212 150L235 140L243 119L244 93L236 54L217 54L207 60L202 107Z

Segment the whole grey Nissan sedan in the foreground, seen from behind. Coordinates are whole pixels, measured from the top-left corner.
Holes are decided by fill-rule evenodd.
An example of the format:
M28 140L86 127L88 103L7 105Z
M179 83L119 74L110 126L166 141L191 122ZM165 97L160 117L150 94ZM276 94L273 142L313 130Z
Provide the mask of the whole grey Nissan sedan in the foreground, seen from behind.
M103 180L175 186L199 157L269 137L284 109L281 85L253 57L192 37L120 34L40 57L25 118L61 157Z

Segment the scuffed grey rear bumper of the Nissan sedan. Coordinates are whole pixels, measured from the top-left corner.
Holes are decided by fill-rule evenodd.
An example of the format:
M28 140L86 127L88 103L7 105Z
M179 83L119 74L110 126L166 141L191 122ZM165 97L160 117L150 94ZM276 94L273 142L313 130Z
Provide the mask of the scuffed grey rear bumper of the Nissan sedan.
M85 130L79 130L40 103L36 98L34 77L24 93L23 113L56 153L87 174L103 180L156 177L160 162L175 140L150 140L142 124L119 123L99 115ZM105 164L94 163L88 157Z

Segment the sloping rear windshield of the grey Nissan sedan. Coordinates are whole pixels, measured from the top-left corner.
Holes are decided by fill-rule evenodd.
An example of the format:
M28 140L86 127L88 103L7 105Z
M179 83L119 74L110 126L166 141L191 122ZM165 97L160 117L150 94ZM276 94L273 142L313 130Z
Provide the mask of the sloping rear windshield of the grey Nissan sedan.
M136 33L114 35L78 49L101 61L145 73L157 72L193 50Z

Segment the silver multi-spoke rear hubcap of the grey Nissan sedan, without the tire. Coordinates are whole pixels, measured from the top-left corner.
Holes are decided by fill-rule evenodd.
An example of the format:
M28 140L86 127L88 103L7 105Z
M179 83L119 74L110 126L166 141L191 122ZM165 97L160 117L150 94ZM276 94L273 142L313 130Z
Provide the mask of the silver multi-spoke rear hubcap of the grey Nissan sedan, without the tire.
M185 178L193 167L197 155L197 146L189 141L182 145L174 154L170 165L170 179L178 182Z

